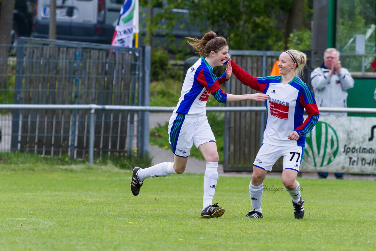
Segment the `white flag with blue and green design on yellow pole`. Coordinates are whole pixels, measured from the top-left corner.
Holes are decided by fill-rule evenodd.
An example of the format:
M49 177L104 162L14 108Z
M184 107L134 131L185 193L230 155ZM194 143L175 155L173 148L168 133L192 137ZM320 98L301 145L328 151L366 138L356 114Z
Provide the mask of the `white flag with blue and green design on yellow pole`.
M124 0L111 45L132 47L133 33L138 32L138 0Z

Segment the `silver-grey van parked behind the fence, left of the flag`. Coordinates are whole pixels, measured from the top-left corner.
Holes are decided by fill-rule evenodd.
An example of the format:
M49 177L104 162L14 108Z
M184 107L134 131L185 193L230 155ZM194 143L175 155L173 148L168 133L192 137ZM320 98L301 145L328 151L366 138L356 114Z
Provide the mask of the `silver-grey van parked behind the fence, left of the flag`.
M56 0L56 39L111 44L123 0ZM32 37L47 38L50 0L37 0Z

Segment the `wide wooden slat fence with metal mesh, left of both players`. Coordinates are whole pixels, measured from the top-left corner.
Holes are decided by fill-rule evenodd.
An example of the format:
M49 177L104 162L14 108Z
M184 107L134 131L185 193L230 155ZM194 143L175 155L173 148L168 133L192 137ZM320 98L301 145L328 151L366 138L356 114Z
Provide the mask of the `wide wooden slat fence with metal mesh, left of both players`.
M21 38L16 61L8 62L1 77L6 80L4 97L13 96L13 102L3 103L24 109L3 111L1 150L85 158L94 119L94 155L123 154L136 147L147 152L148 144L141 143L148 137L142 133L149 127L147 112L97 109L92 117L92 107L69 105L147 106L149 76L150 47ZM28 105L44 105L44 109ZM5 138L5 130L11 131L10 138Z

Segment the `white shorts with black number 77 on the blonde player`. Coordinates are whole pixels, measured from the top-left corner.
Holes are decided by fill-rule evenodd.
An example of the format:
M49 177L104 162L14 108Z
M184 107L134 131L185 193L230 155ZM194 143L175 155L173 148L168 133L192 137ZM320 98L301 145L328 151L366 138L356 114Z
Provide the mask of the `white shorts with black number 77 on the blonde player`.
M283 156L283 169L292 169L299 172L303 154L304 148L302 146L273 146L262 143L253 166L271 171L274 163Z

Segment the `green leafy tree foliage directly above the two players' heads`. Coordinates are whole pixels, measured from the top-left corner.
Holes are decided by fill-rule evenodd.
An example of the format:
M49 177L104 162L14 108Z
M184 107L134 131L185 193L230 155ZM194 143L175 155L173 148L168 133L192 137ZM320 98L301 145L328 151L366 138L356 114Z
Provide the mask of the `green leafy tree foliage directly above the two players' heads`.
M277 50L284 43L278 15L290 8L291 0L195 1L193 20L205 19L218 35L227 38L231 49Z

